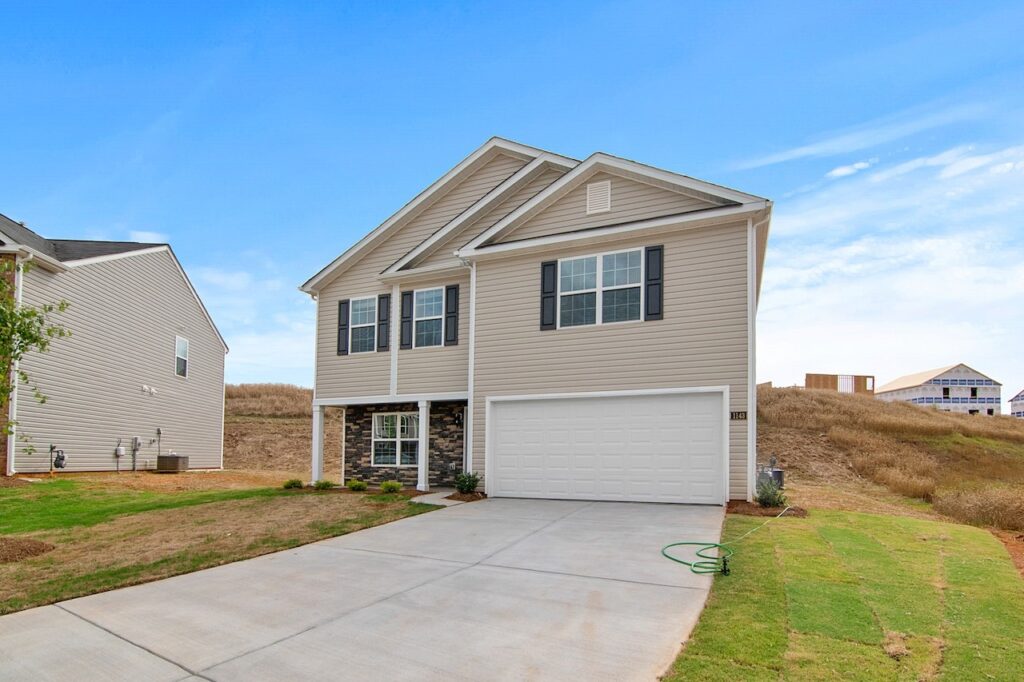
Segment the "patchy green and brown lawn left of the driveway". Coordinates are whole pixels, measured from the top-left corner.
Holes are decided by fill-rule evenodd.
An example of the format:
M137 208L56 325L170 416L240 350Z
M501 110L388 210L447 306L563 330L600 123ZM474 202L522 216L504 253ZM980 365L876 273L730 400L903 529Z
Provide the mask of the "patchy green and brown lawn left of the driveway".
M54 546L0 563L0 614L286 550L439 509L402 495L253 487L0 487L0 535Z

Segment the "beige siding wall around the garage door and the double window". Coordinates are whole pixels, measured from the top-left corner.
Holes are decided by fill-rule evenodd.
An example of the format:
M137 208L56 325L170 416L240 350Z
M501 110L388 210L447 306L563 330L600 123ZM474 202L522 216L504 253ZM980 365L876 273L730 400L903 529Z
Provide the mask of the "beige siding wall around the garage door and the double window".
M665 246L665 319L539 329L541 262ZM477 264L473 468L483 472L488 395L728 385L748 410L746 224ZM746 497L748 424L729 424L730 495Z

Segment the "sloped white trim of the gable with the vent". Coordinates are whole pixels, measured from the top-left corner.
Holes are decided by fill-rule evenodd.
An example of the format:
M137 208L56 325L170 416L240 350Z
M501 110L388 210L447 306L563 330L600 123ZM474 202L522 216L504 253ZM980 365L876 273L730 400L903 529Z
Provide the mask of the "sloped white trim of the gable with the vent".
M570 190L581 185L588 177L599 171L607 171L615 175L625 175L638 181L648 181L652 184L674 189L682 194L696 195L700 199L719 204L764 204L766 200L754 195L748 195L728 187L722 187L711 182L697 180L686 175L670 173L651 166L638 164L634 161L620 159L607 154L592 155L582 164L558 178L536 197L499 220L489 229L484 230L466 246L459 250L459 255L471 253L501 237L513 231L516 227L535 217L544 209L564 197Z

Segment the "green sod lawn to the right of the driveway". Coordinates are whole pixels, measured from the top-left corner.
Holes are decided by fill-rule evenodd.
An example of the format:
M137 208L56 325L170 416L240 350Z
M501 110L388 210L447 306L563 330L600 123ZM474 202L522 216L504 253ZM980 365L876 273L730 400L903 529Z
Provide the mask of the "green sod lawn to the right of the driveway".
M815 511L748 537L731 568L667 680L1024 675L1024 581L987 530Z

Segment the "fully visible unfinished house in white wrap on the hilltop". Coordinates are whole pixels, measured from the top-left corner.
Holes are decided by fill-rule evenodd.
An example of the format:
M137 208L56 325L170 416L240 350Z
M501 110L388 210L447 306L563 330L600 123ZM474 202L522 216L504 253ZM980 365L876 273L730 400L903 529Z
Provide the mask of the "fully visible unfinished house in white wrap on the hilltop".
M880 400L903 400L932 406L943 412L992 416L999 414L1001 386L961 364L894 379L879 388L874 395Z

